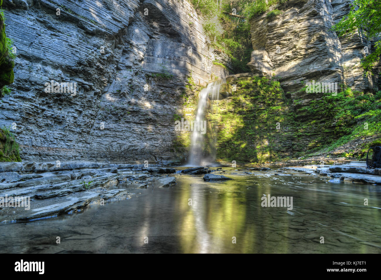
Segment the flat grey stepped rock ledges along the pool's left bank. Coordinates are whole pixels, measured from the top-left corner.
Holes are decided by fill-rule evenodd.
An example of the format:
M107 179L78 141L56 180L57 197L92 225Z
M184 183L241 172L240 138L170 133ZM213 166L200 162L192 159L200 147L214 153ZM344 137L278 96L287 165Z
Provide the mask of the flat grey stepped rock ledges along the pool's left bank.
M159 165L1 162L0 170L3 170L0 204L4 204L0 209L0 223L75 213L88 205L128 199L134 188L176 184L174 177L164 175L174 173L175 169ZM118 188L121 182L129 190ZM17 197L20 199L16 200Z

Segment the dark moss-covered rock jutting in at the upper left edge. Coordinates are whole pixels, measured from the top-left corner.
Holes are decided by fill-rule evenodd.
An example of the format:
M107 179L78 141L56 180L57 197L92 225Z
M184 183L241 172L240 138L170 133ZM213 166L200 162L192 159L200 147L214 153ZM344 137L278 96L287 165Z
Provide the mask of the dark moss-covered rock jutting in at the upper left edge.
M3 0L0 0L0 6ZM13 83L14 73L13 73L14 61L10 56L8 51L8 43L5 34L4 18L0 14L0 89L7 85Z

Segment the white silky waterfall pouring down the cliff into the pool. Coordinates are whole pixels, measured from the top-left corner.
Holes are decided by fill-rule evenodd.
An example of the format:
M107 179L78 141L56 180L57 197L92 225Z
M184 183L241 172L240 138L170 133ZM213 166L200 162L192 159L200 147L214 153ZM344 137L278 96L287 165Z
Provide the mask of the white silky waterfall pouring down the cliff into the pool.
M221 84L226 83L225 79L217 80L213 83L209 83L207 87L203 88L199 94L199 104L197 105L196 123L200 123L204 118L205 106L207 104L208 96L211 99L219 99L219 89ZM191 150L189 151L188 165L199 166L203 160L203 146L204 135L199 129L194 129L191 137Z

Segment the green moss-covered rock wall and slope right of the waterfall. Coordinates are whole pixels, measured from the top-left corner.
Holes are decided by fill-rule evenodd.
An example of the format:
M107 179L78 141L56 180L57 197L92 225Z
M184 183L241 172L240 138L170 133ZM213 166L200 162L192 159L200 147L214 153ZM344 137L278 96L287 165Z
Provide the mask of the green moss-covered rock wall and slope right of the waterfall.
M336 96L311 94L309 100L298 102L287 98L275 79L253 76L230 83L237 84L237 91L214 101L207 113L211 126L204 154L213 153L215 147L217 160L297 159L330 153L343 145L349 152L351 141L381 133L381 92L344 89Z

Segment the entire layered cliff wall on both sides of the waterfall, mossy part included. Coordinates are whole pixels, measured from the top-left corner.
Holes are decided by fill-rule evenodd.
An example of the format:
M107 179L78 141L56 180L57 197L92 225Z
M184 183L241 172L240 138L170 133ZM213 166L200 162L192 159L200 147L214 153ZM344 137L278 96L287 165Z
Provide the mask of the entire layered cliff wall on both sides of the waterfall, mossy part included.
M304 90L314 80L378 91L379 76L360 66L373 42L331 30L349 7L344 0L291 0L270 8L279 15L250 20L252 73L228 76L222 100L209 100L205 153L244 162L299 157L360 122L377 129L377 106L366 118L355 120L352 111L336 118L330 104L346 95L327 101L323 92ZM197 86L226 78L217 64L230 65L187 1L5 0L3 8L18 57L0 125L12 125L21 159L186 160L191 132L175 131L175 120L194 119ZM69 92L57 83L69 83Z

